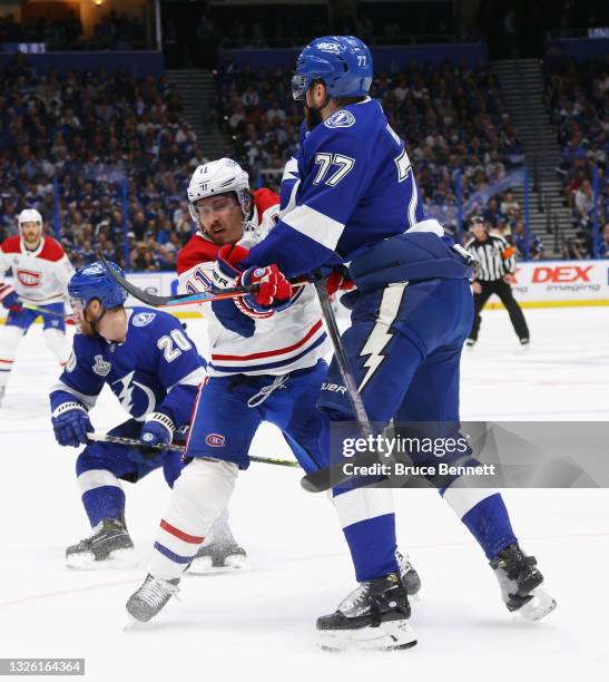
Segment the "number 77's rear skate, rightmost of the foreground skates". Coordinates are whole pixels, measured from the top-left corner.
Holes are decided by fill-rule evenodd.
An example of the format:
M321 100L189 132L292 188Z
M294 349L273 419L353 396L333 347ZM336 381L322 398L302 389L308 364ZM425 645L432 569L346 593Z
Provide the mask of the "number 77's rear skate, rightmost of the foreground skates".
M527 621L539 621L557 607L556 600L541 588L543 576L536 557L527 556L517 544L502 549L490 566L508 611Z

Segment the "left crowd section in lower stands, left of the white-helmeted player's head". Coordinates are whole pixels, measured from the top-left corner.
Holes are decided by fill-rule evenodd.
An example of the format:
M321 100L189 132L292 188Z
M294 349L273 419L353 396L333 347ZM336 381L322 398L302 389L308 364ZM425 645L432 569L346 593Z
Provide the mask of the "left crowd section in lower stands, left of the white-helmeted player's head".
M125 70L24 69L0 72L0 240L24 207L55 232L57 185L61 242L76 266L97 247L125 265L128 232L128 266L174 270L191 232L184 188L206 159L171 86Z

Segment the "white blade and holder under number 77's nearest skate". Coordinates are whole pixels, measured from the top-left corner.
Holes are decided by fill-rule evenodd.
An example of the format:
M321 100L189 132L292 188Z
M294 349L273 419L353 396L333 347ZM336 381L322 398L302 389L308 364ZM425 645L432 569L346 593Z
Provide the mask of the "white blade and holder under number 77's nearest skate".
M324 651L395 651L411 649L416 642L405 620L383 622L379 627L317 631L317 646Z

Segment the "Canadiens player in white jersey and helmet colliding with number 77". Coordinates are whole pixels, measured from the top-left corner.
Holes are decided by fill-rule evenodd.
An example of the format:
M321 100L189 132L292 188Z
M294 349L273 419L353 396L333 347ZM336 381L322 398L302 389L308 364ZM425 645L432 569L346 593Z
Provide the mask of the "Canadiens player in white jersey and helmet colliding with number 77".
M197 233L178 257L180 286L190 293L209 291L214 282L229 282L239 274L236 265L247 255L247 246L273 228L278 197L267 189L251 193L247 173L223 158L195 170L188 199ZM178 590L184 566L227 504L238 470L247 469L249 446L263 421L282 430L306 471L324 466L318 458L322 415L316 398L328 349L315 291L307 284L282 305L261 311L261 298L274 288L272 280L263 284L256 296L238 301L238 306L225 300L205 310L209 364L186 450L193 461L174 487L149 573L127 602L128 613L138 621L155 617ZM336 509L343 526L354 518L375 519L391 506L391 490L362 488L341 503ZM386 548L396 555L395 543ZM414 593L419 576L399 557Z

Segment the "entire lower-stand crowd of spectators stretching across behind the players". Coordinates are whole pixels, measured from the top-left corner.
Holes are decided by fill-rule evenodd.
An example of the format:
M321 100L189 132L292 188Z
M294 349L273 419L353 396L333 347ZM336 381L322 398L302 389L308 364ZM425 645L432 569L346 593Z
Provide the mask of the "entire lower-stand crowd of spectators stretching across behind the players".
M602 70L595 74L589 95L595 114L586 105L576 113L568 76L554 78L549 95L561 107L553 110L562 117L561 169L570 179L566 199L571 196L573 212L582 196L590 199L591 163L602 172L606 162L609 77ZM284 68L229 69L218 75L217 86L220 118L232 140L226 153L249 170L253 186L277 188L285 160L297 153L303 117L291 96L289 74ZM441 222L454 230L460 195L465 230L473 215L482 214L494 233L524 255L523 207L514 198L522 149L487 67L412 66L380 74L372 94L407 140L429 212L439 211ZM582 130L591 131L590 139ZM23 60L0 72L0 240L16 231L22 208L36 206L51 231L59 223L76 266L95 260L101 249L131 270L171 271L193 230L184 189L206 160L164 78L135 79L126 70L36 75ZM599 249L609 255L609 188L602 173L600 182ZM586 215L589 222L589 211ZM571 257L589 255L583 236L569 249ZM530 257L544 257L534 235L528 251Z

